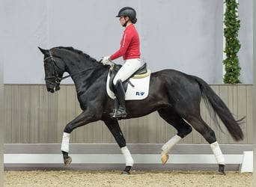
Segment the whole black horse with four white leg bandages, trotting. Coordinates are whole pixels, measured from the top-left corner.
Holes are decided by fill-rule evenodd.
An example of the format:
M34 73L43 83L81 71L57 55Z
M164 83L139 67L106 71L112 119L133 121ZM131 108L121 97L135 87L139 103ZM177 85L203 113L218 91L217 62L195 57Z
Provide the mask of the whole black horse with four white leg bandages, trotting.
M49 50L40 49L40 51L44 55L47 91L52 93L58 91L61 80L67 78L67 76L63 77L63 74L67 72L76 85L77 97L82 108L82 114L67 123L64 128L61 144L64 164L66 166L70 165L72 161L68 156L70 133L79 126L103 120L124 154L126 167L123 174L129 174L133 165L132 156L126 146L118 120L109 115L115 105L114 100L106 92L109 65L104 66L84 52L73 49L73 47L60 46ZM210 144L216 162L219 164L219 172L225 174L225 160L216 141L215 133L201 118L201 98L207 103L208 108L213 108L213 111L210 110L213 113L211 114L213 119L216 119L217 114L232 138L235 141L242 140L243 132L239 123L243 119L235 120L222 99L214 93L204 80L177 70L161 70L151 73L149 95L146 99L126 101L126 119L141 117L153 111L158 111L162 119L177 129L177 135L174 135L162 146L161 159L163 164L168 160L168 151L171 150L171 147L192 132L193 127ZM219 126L218 120L215 121Z

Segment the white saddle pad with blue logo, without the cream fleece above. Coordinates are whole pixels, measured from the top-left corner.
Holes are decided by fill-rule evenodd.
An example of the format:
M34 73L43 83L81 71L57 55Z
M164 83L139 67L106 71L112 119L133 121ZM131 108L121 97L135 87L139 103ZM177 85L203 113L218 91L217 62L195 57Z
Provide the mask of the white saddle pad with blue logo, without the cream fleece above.
M106 91L110 98L115 99L115 93L109 89L109 79L110 76L108 76L107 79ZM134 85L134 87L128 83L127 92L125 93L126 100L141 100L147 98L149 92L150 75L140 79L130 78L129 81L132 83L132 85Z

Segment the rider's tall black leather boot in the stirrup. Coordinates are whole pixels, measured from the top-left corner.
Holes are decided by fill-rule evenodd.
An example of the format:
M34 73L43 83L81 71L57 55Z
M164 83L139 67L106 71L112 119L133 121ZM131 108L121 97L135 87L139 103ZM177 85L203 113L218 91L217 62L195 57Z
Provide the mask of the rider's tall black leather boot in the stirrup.
M127 111L125 108L125 91L122 81L119 79L115 85L115 110L111 113L112 117L123 118L127 117Z

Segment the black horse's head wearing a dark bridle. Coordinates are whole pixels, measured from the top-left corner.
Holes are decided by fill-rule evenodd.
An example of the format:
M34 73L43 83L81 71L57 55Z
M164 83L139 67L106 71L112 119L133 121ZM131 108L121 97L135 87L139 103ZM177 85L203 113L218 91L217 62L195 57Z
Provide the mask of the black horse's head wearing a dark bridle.
M47 91L54 93L60 90L61 78L64 74L64 63L61 58L54 56L54 52L51 49L38 48L44 55L43 65Z

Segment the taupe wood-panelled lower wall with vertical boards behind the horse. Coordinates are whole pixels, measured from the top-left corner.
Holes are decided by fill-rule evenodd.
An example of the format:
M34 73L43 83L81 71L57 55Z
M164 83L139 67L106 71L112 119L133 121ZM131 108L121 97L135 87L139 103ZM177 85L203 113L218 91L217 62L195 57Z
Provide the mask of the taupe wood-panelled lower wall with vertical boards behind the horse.
M245 139L234 142L222 124L216 128L210 114L201 103L201 115L216 132L222 144L252 144L252 85L211 85L228 105L236 119L246 116L242 124ZM48 93L45 85L4 85L5 143L54 144L60 143L64 126L81 113L74 85L61 85L57 93ZM127 143L162 144L176 134L156 112L120 121ZM76 129L71 143L115 143L103 122L98 121ZM195 130L181 143L206 143Z

